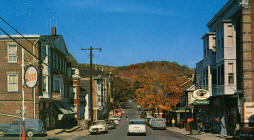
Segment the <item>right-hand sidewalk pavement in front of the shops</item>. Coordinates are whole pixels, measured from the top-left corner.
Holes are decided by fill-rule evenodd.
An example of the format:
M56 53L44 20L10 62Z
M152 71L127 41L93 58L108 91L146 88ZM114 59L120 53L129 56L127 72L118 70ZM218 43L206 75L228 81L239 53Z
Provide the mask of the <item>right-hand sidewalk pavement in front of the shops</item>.
M226 139L226 138L221 138L220 134L212 134L212 133L190 135L190 131L186 131L185 128L180 129L178 127L167 127L167 130L177 132L185 136L193 137L200 140L225 140ZM232 138L232 136L228 136L227 139L228 138Z

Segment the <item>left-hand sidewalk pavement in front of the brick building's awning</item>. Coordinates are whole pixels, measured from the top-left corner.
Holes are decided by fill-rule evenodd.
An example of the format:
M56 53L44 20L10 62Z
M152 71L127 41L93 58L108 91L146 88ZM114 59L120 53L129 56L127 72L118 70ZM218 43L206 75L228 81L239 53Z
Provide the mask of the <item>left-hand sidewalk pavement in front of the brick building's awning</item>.
M89 130L88 129L80 129L80 126L74 126L70 129L53 129L47 131L47 135L51 136L88 136Z

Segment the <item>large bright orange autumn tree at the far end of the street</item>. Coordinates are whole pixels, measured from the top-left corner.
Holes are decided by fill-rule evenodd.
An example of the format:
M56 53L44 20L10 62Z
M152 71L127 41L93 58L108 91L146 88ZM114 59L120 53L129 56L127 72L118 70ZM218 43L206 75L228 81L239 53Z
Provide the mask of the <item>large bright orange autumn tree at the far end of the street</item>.
M140 82L136 90L136 103L148 109L171 111L179 103L183 92L181 83L185 81L173 70L168 72L151 71L145 67L142 74L135 77Z

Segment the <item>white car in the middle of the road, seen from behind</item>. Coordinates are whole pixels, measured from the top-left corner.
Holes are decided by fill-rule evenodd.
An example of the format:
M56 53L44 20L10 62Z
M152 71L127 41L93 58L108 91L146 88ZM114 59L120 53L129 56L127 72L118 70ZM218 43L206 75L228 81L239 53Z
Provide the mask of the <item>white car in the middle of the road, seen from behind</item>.
M128 133L127 135L132 134L143 134L146 136L146 124L145 120L130 120L128 126Z

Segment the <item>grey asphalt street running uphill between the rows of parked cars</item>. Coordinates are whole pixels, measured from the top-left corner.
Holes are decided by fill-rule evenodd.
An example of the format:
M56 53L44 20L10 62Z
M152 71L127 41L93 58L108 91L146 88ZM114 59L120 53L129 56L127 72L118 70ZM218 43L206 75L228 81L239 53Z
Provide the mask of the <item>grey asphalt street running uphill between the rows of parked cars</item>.
M128 103L126 112L129 119L139 118L136 106L134 103ZM27 140L195 140L191 137L171 132L168 130L152 130L147 129L147 136L127 136L127 126L125 115L123 116L120 125L113 130L109 130L106 134L91 135L91 136L64 136L64 137L35 137L27 138ZM1 140L16 140L18 137L2 137Z

